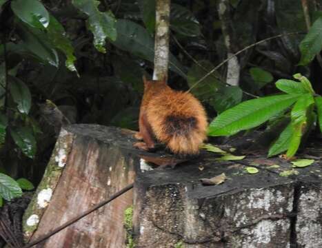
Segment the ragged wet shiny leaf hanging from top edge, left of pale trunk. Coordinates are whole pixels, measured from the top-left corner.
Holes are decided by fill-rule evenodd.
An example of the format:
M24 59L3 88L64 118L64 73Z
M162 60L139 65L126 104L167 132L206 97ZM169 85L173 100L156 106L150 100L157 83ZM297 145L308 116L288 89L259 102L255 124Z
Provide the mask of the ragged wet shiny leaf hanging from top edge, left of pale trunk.
M101 12L97 8L100 1L96 0L72 0L72 4L88 15L88 26L94 35L94 46L99 52L105 53L106 38L111 41L117 39L117 20L110 11Z

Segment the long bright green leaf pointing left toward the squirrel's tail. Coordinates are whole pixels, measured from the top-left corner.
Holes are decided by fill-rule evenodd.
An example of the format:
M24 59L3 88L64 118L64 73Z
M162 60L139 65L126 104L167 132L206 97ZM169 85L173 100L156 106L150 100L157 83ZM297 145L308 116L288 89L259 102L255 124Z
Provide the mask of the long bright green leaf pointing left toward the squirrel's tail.
M298 94L283 94L245 101L217 116L208 127L208 135L232 135L261 125L290 107L297 99Z

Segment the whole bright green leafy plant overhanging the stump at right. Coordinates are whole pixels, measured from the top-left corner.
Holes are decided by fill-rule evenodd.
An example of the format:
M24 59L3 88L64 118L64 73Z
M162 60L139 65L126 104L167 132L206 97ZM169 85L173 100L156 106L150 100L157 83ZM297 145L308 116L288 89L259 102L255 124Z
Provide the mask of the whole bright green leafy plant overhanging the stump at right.
M322 97L315 94L310 81L301 74L295 74L293 81L280 79L276 87L285 94L265 96L244 101L221 113L210 123L209 136L230 136L280 116L279 122L287 121L278 138L270 145L268 156L286 151L286 158L292 158L299 149L305 134L316 124L322 131Z

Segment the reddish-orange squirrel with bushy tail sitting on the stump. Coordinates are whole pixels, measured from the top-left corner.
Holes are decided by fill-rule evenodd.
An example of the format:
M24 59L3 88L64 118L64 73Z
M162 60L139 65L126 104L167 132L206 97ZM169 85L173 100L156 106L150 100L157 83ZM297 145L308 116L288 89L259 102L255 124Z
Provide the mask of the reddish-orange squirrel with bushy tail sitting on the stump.
M172 90L165 79L148 81L143 76L144 93L135 143L140 149L153 149L159 141L180 156L199 154L207 138L207 116L201 103L188 92Z

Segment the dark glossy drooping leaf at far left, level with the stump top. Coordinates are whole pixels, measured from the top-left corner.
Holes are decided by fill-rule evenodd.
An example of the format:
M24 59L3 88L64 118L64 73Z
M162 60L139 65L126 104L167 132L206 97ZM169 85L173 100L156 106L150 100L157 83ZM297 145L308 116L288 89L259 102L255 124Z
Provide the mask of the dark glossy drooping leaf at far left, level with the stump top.
M28 158L34 158L36 154L36 139L30 127L16 127L10 129L14 143L21 149Z

